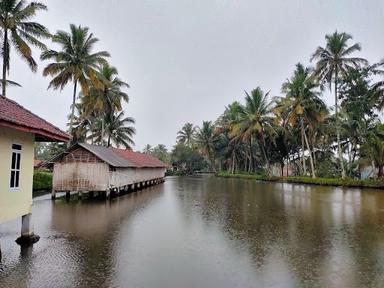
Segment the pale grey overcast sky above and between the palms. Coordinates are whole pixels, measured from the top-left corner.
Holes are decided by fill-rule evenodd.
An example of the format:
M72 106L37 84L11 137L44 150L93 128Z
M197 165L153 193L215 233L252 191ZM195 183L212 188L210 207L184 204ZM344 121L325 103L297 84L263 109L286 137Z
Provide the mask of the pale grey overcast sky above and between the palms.
M244 90L260 86L279 95L297 62L336 29L362 44L370 62L384 57L382 0L51 0L37 21L53 33L88 26L128 82L126 114L136 119L135 149L171 148L186 122L215 120ZM48 43L50 45L50 43ZM39 53L35 51L38 58ZM48 78L29 71L16 53L9 78L23 85L8 96L62 129L72 85L47 90ZM332 100L325 96L327 103Z

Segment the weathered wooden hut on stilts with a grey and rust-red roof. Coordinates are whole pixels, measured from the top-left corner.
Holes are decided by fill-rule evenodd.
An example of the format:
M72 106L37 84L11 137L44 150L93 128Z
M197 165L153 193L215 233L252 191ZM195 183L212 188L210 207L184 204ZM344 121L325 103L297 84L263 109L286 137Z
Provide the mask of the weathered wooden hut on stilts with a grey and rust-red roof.
M78 193L133 190L164 181L166 164L129 150L77 143L52 160L52 198L56 192Z

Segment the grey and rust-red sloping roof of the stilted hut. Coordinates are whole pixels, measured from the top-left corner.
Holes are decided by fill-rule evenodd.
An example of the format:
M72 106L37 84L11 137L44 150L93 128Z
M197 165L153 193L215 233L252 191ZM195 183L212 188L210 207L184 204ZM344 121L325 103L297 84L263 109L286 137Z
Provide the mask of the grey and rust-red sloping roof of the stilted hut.
M73 146L83 147L99 159L113 167L122 168L165 168L167 165L152 155L130 150L108 148L99 145L78 143ZM70 148L70 149L73 149Z

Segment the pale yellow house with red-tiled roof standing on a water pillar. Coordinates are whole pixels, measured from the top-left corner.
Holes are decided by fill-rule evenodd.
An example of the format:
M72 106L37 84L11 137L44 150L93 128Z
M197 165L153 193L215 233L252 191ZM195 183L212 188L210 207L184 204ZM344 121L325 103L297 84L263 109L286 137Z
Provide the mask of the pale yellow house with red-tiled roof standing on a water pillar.
M29 241L28 238L33 236L35 141L66 142L69 139L69 135L59 128L0 96L0 223L22 216L20 241Z

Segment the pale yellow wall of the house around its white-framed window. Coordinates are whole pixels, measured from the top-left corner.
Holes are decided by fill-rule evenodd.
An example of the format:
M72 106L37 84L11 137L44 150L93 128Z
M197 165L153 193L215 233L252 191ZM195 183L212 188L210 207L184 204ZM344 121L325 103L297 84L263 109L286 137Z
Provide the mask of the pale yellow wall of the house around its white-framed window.
M0 126L0 223L32 212L34 134ZM10 189L12 144L21 144L20 187Z

